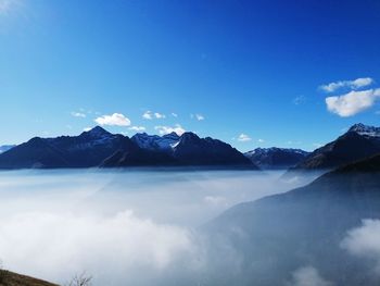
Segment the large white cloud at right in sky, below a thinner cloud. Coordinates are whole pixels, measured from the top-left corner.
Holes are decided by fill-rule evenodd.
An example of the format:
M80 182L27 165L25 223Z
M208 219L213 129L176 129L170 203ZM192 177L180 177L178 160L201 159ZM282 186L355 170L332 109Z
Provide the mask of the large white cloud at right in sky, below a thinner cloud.
M330 112L347 117L369 109L379 97L380 88L351 91L343 96L326 98L326 104Z

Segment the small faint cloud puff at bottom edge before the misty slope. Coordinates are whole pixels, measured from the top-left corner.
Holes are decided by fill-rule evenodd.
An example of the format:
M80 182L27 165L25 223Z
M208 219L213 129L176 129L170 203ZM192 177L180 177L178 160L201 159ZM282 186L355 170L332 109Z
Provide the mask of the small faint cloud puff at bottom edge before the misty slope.
M292 274L292 283L289 286L331 286L332 283L320 276L313 266L300 268Z

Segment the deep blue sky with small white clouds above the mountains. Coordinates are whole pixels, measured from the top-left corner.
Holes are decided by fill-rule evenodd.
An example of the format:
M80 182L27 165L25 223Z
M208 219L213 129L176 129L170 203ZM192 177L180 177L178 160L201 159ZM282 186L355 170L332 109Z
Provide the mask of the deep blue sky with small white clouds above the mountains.
M102 123L311 150L379 125L379 30L369 0L0 0L0 145Z

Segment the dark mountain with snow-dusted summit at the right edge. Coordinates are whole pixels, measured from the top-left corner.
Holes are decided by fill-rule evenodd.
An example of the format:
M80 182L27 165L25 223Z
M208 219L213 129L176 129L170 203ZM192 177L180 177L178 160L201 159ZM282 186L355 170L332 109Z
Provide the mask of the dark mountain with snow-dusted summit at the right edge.
M345 134L316 149L292 171L333 169L380 153L380 127L353 125Z

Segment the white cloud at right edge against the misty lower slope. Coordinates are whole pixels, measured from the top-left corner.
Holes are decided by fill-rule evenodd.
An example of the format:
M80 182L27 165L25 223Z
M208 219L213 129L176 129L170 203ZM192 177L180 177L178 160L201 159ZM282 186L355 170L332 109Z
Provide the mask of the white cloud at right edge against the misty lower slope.
M341 247L358 258L375 261L375 273L380 275L380 220L364 220L362 226L351 229Z

